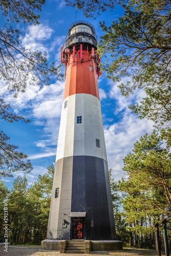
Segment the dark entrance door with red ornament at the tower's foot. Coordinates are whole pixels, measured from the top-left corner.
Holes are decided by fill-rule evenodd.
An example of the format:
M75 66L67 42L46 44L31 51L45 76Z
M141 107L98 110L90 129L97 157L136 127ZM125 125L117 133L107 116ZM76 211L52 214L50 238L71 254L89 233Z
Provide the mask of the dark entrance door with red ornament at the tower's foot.
M84 217L72 218L72 239L84 239Z

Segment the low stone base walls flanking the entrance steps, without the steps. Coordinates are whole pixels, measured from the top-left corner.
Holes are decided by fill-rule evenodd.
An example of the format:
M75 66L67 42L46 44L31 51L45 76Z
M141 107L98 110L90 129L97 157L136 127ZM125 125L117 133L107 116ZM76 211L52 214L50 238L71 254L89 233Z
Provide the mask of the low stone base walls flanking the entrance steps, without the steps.
M59 251L65 252L67 241L85 242L84 253L90 253L90 251L115 251L122 250L123 243L119 240L48 240L41 241L41 249L47 251ZM79 253L79 252L78 252Z

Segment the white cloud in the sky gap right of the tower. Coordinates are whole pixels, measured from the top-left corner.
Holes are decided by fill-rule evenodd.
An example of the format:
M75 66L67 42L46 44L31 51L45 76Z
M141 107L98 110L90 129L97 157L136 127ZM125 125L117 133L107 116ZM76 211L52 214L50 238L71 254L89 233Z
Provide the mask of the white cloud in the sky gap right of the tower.
M126 78L125 78L126 80ZM109 81L111 90L109 97L115 99L116 108L114 115L119 116L119 121L104 126L108 166L112 168L115 180L121 179L123 175L123 159L133 149L133 144L145 133L152 133L154 123L151 120L139 119L133 114L128 106L132 102L139 102L145 96L142 90L137 90L129 98L121 96L117 88L118 83Z

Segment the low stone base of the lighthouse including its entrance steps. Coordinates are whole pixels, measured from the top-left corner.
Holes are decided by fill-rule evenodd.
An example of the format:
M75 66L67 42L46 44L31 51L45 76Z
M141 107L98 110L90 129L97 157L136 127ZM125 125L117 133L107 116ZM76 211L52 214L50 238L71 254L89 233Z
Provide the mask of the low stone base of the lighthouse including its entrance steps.
M60 253L90 253L90 251L122 250L119 240L49 240L41 241L41 249Z

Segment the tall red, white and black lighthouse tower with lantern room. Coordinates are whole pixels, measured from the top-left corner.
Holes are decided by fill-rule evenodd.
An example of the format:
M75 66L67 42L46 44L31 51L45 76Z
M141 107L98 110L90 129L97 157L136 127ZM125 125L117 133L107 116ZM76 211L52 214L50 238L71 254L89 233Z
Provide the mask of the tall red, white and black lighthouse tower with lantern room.
M116 240L94 27L73 23L61 48L65 89L47 239Z

